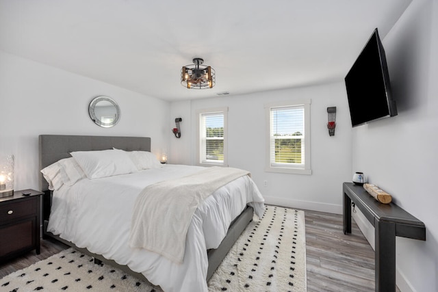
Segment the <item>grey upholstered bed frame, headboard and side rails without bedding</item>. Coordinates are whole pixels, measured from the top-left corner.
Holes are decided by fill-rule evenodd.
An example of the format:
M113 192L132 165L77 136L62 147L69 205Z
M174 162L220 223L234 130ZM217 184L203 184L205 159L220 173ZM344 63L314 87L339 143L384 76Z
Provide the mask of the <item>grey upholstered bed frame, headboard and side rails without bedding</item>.
M141 150L151 151L150 137L116 137L116 136L83 136L83 135L40 135L40 170L55 163L56 161L71 157L70 152L73 151L90 151L90 150L106 150L118 148L127 151ZM51 237L72 246L76 250L89 256L94 257L94 261L99 263L107 263L114 267L125 271L142 280L147 280L143 274L136 273L126 265L118 265L115 261L108 260L100 254L94 254L86 248L78 248L74 243L66 241L53 233L47 232L47 224L49 222L49 215L51 210L51 191L49 191L49 184L40 173L40 190L44 191L43 196L43 220L44 220L44 237ZM219 247L215 250L207 250L208 254L208 271L207 281L213 276L214 271L222 262L222 259L227 255L237 238L240 236L249 222L253 220L253 208L246 207L246 209L233 221L228 230L227 236L222 240Z

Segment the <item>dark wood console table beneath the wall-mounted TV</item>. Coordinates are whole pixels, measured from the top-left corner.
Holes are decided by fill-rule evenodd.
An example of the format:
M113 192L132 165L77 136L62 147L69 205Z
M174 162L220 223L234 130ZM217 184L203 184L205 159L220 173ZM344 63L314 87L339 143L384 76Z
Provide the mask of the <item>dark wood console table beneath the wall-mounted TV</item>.
M351 203L374 226L376 291L396 291L396 236L426 240L426 226L394 203L382 204L360 185L344 183L344 234L351 233Z

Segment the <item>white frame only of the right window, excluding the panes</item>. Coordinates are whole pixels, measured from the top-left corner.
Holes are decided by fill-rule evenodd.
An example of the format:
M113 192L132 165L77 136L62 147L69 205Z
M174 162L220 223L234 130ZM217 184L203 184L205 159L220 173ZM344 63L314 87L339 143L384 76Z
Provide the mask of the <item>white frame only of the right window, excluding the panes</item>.
M311 99L280 101L265 105L266 119L266 172L282 172L289 174L311 174L310 161L310 105ZM271 109L281 107L304 107L304 163L271 163Z

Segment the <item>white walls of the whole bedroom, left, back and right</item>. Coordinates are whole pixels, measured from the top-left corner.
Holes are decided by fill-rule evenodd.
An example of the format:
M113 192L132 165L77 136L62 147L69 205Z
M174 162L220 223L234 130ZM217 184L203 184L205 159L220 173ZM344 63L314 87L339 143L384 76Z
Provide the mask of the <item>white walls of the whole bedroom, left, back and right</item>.
M397 239L397 282L402 291L438 291L438 4L413 0L383 39L399 115L351 129L342 81L207 100L167 103L0 52L0 151L16 157L15 188L38 189L38 135L139 135L152 137L156 155L170 163L194 164L193 113L229 107L229 165L250 170L266 202L342 212L342 182L361 170L371 183L426 224L427 240ZM94 96L121 107L120 122L104 129L88 117ZM311 98L312 175L265 172L263 105ZM337 129L329 137L326 107L337 107ZM175 118L181 139L172 137ZM263 186L268 181L268 187ZM365 220L366 221L366 220Z

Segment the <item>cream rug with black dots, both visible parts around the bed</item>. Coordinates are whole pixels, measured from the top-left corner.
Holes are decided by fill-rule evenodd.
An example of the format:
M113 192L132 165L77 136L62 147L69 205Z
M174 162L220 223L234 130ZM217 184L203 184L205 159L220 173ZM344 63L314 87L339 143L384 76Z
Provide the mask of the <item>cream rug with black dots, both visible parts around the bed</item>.
M209 291L306 291L303 211L266 206L209 280ZM162 289L73 249L0 280L0 291L150 291Z

